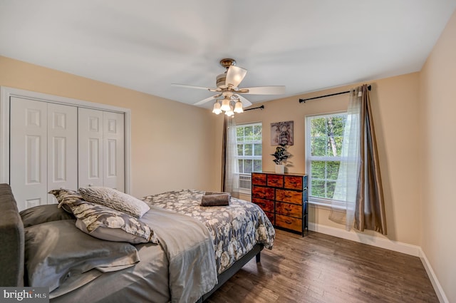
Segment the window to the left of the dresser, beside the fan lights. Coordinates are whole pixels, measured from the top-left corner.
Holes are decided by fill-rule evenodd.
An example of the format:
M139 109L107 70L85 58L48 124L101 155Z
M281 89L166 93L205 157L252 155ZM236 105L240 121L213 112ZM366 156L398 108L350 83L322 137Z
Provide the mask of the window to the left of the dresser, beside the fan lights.
M252 188L252 172L262 169L262 133L261 123L236 126L239 190L244 192Z

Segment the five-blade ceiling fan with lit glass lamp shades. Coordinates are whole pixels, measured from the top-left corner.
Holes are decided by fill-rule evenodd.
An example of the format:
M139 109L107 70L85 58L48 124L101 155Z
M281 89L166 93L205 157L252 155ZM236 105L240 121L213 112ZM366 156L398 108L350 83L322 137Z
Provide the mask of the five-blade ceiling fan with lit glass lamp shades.
M216 95L205 98L202 101L198 101L197 103L194 103L194 105L199 106L211 101L212 99L216 99L212 113L216 113L217 115L222 113L222 111L224 111L227 115L242 113L244 111L243 107L251 106L252 102L241 96L242 94L281 95L285 93L285 86L255 86L249 88L239 88L239 84L247 74L247 69L236 66L236 61L232 58L224 58L220 60L220 65L227 70L217 76L217 88L205 88L202 86L189 86L176 83L173 83L172 86L197 88L216 92ZM221 101L217 100L219 97L223 97Z

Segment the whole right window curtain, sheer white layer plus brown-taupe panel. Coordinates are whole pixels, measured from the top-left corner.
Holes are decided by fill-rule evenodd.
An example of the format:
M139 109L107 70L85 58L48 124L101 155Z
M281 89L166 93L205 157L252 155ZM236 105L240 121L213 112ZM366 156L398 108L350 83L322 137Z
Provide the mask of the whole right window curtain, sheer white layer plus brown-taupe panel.
M386 235L385 202L378 162L368 85L350 92L346 131L336 200L346 202L346 210L332 207L329 219L346 225L346 230L375 230Z

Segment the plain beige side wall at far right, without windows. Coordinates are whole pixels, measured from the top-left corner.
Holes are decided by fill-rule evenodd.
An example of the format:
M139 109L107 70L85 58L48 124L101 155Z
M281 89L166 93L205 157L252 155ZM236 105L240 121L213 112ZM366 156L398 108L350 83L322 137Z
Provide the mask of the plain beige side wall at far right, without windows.
M421 246L456 302L456 13L420 73Z

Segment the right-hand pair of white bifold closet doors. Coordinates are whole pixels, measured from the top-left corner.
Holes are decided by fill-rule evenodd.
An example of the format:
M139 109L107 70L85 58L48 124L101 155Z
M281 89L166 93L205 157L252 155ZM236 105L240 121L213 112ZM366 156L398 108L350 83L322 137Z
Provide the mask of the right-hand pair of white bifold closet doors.
M124 115L78 109L79 187L125 190Z

